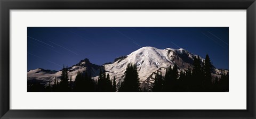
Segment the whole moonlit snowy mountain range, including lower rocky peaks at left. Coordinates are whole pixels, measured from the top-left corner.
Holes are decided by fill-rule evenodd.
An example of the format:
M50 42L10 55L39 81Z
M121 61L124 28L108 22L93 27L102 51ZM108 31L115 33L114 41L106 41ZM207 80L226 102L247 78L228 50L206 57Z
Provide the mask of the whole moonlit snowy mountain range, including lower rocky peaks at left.
M109 73L110 78L114 79L116 77L117 86L119 82L122 82L124 78L124 72L128 63L137 64L137 69L139 73L140 83L142 89L151 90L153 87L155 74L162 72L162 75L165 74L166 68L174 66L177 64L179 71L191 69L193 65L194 57L197 56L193 53L188 52L185 49L157 49L155 47L142 47L138 50L135 50L127 56L121 56L114 60L113 63L105 63L103 66L106 69L106 73ZM204 62L204 59L201 58L201 62ZM97 75L99 74L99 69L101 66L95 65L89 62L88 59L85 59L78 64L68 68L69 75L74 81L75 76L78 72L91 73L92 77L97 80ZM216 69L213 67L212 75L219 77L220 74L227 73L228 70ZM42 69L31 70L28 72L28 80L41 80L42 82L49 82L49 79L57 79L60 77L61 71L51 73L46 72ZM53 80L52 80L53 83Z

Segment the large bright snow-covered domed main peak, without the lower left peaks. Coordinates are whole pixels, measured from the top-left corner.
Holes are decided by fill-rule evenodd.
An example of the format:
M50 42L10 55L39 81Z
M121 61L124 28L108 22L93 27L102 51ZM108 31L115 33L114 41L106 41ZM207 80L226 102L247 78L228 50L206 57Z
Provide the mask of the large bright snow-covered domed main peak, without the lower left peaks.
M139 78L141 82L141 89L151 90L153 87L155 75L158 72L162 72L165 75L166 68L178 66L179 71L191 69L193 67L194 57L197 56L188 52L185 49L157 49L155 47L142 47L130 55L123 56L115 60L114 63L103 65L107 73L113 79L116 77L118 82L122 82L124 78L124 72L128 63L137 64ZM201 57L201 62L204 62L204 58ZM213 68L212 74L214 76L220 76L222 73L227 73L228 70L221 70Z

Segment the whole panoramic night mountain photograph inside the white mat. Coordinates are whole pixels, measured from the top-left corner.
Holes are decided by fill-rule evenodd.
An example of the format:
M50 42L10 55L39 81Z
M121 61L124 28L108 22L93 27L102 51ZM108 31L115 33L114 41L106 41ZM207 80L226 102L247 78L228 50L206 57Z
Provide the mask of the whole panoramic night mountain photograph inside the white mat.
M28 92L228 92L228 27L28 27Z

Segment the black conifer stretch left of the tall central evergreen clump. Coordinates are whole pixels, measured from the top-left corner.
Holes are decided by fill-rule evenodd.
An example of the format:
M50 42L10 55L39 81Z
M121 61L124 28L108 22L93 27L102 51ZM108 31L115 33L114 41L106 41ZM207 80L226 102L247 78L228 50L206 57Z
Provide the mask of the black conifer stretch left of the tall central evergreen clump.
M106 75L105 69L100 69L98 80L93 80L91 75L87 72L79 72L76 75L75 81L71 81L68 78L68 67L64 67L61 72L60 82L57 78L54 79L54 84L51 85L51 80L46 86L39 82L28 83L28 91L53 91L53 92L115 92L116 78L114 77L113 82L110 79L110 75Z

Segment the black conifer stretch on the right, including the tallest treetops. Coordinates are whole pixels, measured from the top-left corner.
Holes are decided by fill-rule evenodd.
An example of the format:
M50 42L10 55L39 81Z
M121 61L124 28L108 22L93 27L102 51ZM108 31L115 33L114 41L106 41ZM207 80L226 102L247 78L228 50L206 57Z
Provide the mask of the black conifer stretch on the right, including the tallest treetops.
M187 69L178 73L178 67L168 67L164 77L161 72L156 73L152 91L155 92L225 92L229 89L228 73L220 78L211 75L213 65L209 55L201 63L199 56L194 57L193 70Z

